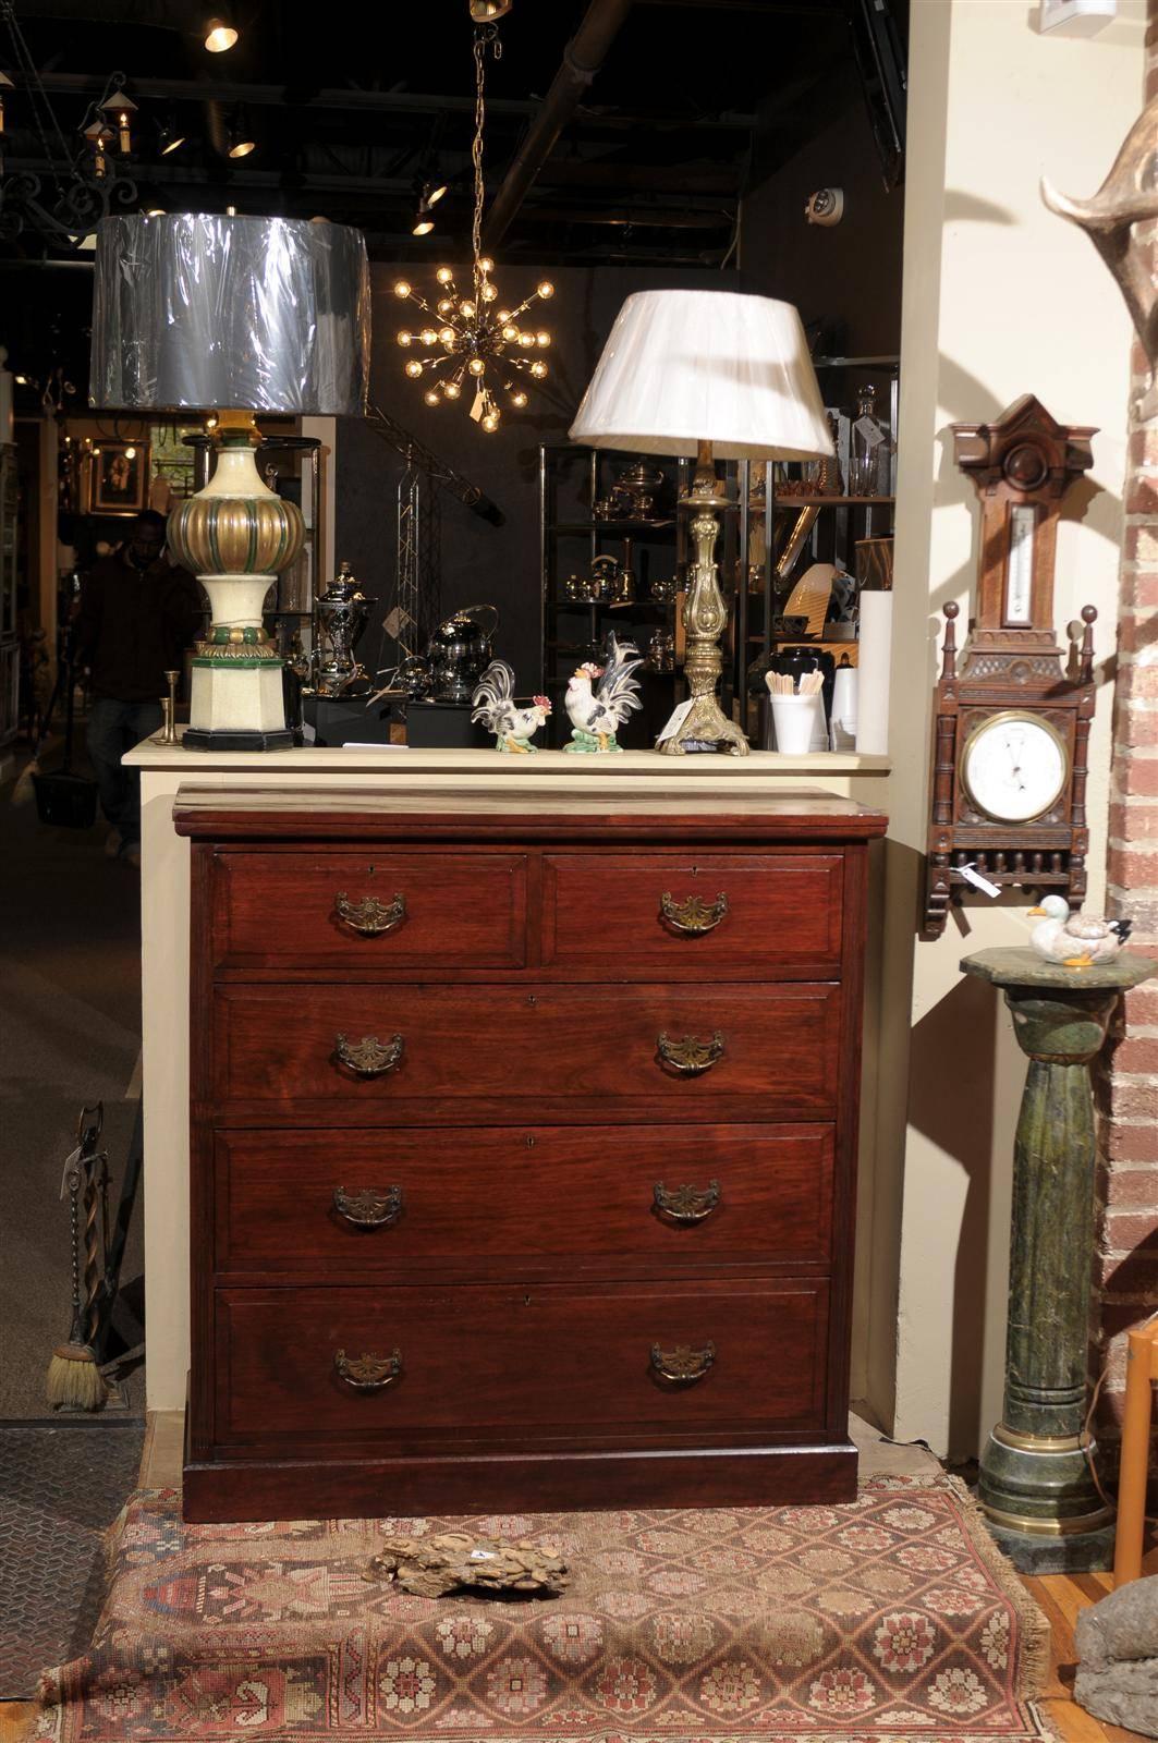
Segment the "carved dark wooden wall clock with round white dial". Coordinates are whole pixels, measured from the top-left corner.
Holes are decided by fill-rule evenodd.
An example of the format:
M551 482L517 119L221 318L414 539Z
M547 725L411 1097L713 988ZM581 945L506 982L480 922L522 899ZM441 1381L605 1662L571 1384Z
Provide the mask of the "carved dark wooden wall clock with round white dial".
M933 708L924 929L945 927L966 868L999 889L1085 896L1086 743L1097 612L1076 669L1053 631L1057 518L1093 460L1088 425L1057 424L1025 394L992 424L954 424L954 458L982 504L977 617L957 671L957 605L945 607Z

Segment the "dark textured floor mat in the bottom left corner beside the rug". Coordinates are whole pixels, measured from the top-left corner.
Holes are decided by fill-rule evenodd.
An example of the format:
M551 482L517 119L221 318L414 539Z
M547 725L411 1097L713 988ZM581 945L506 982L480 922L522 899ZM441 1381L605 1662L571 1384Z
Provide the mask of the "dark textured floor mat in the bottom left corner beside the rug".
M0 1426L0 1699L77 1658L105 1593L103 1534L136 1489L143 1422Z

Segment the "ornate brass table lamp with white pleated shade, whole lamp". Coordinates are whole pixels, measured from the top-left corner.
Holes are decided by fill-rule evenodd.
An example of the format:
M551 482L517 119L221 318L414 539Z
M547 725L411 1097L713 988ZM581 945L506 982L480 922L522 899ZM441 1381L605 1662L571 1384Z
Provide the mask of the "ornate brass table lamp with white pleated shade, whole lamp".
M694 509L696 547L684 605L691 699L659 749L745 756L748 739L715 694L727 624L715 542L719 512L734 507L715 460L834 451L799 314L792 303L738 291L637 291L619 310L569 434L588 448L694 457L682 498Z

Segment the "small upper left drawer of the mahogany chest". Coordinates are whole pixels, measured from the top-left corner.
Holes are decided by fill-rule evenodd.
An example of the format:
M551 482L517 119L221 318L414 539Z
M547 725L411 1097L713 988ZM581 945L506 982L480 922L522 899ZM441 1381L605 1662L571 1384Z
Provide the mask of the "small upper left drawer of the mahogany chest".
M218 969L521 967L527 858L221 852Z

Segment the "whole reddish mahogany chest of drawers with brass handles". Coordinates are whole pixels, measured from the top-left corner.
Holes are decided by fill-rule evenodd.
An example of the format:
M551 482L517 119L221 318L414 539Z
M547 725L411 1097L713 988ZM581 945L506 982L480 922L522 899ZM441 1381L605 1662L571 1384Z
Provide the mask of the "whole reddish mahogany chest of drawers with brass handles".
M176 828L187 1518L855 1492L879 812L183 791Z

